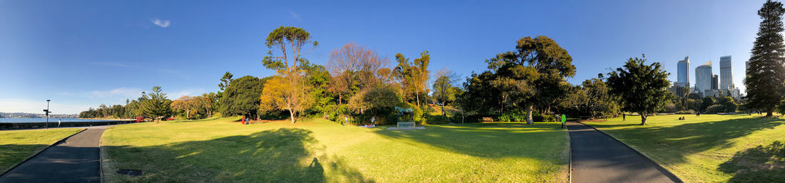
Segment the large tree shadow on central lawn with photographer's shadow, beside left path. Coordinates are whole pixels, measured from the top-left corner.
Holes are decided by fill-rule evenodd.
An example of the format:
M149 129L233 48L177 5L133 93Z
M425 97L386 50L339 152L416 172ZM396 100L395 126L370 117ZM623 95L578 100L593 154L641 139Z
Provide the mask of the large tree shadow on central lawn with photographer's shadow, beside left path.
M139 178L115 175L119 181L326 182L325 162L341 170L356 170L316 156L312 152L315 144L312 131L280 128L208 141L104 148L113 162L111 168L144 171ZM346 176L367 179L359 172Z

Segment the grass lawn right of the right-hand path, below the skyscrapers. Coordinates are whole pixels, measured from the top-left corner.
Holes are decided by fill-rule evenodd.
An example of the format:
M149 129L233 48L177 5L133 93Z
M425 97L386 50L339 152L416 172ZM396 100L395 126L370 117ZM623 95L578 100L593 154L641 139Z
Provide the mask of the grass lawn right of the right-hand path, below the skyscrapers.
M687 120L677 120L678 117ZM585 122L686 182L785 182L785 120L757 115L627 116Z

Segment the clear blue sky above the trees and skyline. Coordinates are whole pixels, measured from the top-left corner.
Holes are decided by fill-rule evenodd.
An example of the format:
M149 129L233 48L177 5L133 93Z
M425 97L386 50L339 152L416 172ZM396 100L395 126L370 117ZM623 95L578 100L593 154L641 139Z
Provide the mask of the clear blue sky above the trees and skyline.
M538 2L241 2L0 0L0 112L79 113L120 104L162 86L170 98L217 91L235 77L274 73L261 65L267 34L308 30L324 64L354 41L392 58L431 54L432 70L468 76L485 59L512 51L524 36L546 35L577 67L573 84L645 53L676 79L677 60L694 69L733 57L742 88L744 62L765 1ZM695 77L690 76L694 83Z

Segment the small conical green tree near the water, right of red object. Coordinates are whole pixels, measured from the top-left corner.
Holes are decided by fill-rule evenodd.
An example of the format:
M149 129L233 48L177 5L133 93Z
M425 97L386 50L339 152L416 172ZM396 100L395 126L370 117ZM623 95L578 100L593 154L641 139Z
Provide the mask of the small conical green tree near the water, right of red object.
M149 94L143 92L142 98L144 98L142 111L153 120L162 120L172 114L170 107L172 101L166 98L166 93L161 90L160 86L152 87L152 92Z

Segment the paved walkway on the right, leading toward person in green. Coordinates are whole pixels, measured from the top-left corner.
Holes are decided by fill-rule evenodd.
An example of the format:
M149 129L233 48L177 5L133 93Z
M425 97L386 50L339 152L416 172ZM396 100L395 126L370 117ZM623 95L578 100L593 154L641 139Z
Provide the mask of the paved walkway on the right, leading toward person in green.
M601 131L574 122L567 123L567 128L572 150L572 182L678 181L654 161Z

